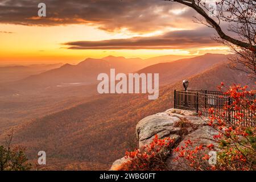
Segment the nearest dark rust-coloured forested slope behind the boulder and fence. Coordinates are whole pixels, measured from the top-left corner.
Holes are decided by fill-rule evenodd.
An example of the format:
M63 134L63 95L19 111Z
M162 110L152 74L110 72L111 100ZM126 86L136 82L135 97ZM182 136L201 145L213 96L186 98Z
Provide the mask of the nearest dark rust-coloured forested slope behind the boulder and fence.
M203 59L200 60L197 67L203 64ZM186 77L191 82L189 89L216 90L220 82L226 85L233 82L254 84L245 73L229 69L226 65L225 61L219 61L211 66L203 65L200 72L193 68L189 72L191 75L187 73L189 76ZM159 65L154 66L159 68ZM154 66L150 71L155 70ZM165 70L162 75L167 80L172 77ZM46 168L74 169L75 164L82 163L80 169L108 169L115 159L133 148L134 129L140 119L173 106L174 89L183 89L183 77L177 79L163 81L168 84L161 86L160 96L154 101L147 100L147 94L105 94L81 98L81 104L17 125L14 127L14 142L27 147L30 159L36 159L36 151L46 151Z

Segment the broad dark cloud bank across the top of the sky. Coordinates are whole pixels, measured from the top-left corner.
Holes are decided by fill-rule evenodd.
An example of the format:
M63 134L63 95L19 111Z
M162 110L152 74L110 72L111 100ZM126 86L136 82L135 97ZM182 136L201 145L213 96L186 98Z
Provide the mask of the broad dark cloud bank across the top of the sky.
M195 11L162 0L44 0L47 17L39 18L37 0L0 3L0 23L27 26L90 24L105 31L122 28L150 32L166 27L188 27Z

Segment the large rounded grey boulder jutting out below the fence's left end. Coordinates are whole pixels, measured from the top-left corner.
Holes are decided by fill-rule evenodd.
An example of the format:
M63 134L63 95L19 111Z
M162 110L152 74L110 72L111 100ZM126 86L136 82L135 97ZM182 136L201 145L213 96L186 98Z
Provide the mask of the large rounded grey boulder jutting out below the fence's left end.
M160 139L170 137L175 141L179 140L184 130L180 123L191 123L191 126L187 126L188 133L191 133L198 126L205 125L206 121L206 118L203 119L192 111L169 109L163 113L143 118L138 122L135 133L139 147L142 147L145 144L151 143L156 134Z

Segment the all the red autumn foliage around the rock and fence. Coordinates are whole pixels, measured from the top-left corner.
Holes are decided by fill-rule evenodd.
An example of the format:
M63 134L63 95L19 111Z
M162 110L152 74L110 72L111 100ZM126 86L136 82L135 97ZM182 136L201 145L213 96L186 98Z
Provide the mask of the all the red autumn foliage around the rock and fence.
M223 87L224 84L221 83L219 88ZM165 159L172 154L175 156L176 166L185 170L256 170L256 100L249 99L255 98L250 97L255 94L255 90L246 89L247 86L230 86L224 94L232 100L231 104L226 103L222 113L214 108L209 109L209 120L206 122L218 131L211 138L218 144L216 164L209 164L209 152L216 150L212 143L195 146L195 142L187 140L183 146L172 148L173 139L159 139L155 135L150 144L133 152L126 152L126 158L130 162L123 169L166 170ZM233 110L233 122L226 119L230 110ZM248 114L252 121L246 118ZM250 125L246 125L246 122Z

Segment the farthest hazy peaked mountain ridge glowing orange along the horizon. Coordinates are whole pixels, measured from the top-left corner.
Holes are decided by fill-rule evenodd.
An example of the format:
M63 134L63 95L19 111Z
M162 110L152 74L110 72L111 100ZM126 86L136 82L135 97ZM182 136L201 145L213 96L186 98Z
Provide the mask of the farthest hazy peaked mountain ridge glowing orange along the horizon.
M184 57L191 56L166 55L152 57L145 60L140 58L115 56L107 56L102 59L88 58L76 65L64 64L61 67L42 72L40 74L31 74L26 78L20 76L20 80L12 80L12 82L1 84L0 96L1 94L6 95L8 92L14 94L15 90L16 93L20 93L22 91L28 92L28 90L42 91L42 89L45 90L46 88L54 88L56 86L97 84L97 75L99 73L109 73L110 68L115 68L116 72L119 73L133 73L149 65L166 61L174 61L177 58Z

